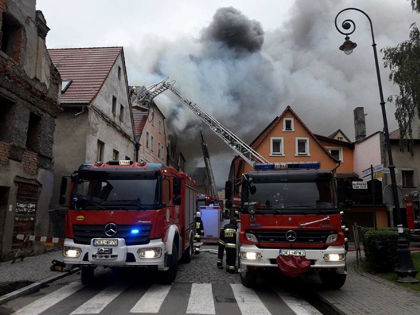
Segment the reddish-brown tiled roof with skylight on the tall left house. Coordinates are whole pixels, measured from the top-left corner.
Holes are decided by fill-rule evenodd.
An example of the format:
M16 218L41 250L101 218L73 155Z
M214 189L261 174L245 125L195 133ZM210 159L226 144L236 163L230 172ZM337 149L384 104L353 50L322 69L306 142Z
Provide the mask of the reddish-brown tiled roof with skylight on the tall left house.
M72 80L61 104L89 104L98 94L122 47L48 49L63 81Z

